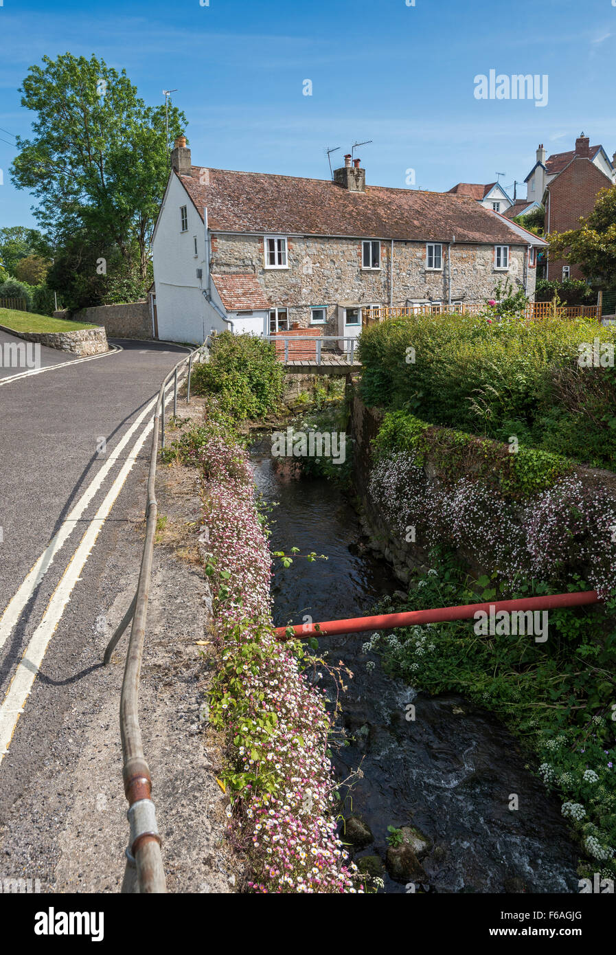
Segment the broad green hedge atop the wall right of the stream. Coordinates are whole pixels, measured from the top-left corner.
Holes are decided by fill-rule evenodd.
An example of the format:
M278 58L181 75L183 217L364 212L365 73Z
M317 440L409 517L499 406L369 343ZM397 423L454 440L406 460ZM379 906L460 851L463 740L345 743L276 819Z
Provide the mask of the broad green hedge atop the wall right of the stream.
M364 329L361 394L431 423L616 469L616 373L579 346L616 342L590 319L417 315Z

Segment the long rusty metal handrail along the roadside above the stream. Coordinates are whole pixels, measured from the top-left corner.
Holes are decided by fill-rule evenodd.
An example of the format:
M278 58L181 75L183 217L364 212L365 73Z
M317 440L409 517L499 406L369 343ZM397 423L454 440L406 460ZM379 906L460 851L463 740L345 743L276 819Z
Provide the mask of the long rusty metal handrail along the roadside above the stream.
M206 345L207 343L204 342L198 349L191 351L189 355L178 362L160 386L154 413L148 471L148 499L145 511L145 541L139 568L137 593L109 641L103 658L104 663L109 663L117 642L132 618L133 626L131 627L131 636L126 654L119 703L119 726L123 758L122 778L124 780L124 793L129 804L128 819L130 822L130 844L126 850L126 868L122 881L122 892L142 894L166 892L156 809L151 799L152 779L150 768L143 753L143 742L138 721L139 675L145 640L145 622L158 518L155 484L160 432L162 434L161 447L164 447L165 392L173 376L174 414L176 414L178 409L179 371L184 365L188 365L188 388L186 393L186 402L188 402L190 400L190 373L193 361L196 356L202 357Z

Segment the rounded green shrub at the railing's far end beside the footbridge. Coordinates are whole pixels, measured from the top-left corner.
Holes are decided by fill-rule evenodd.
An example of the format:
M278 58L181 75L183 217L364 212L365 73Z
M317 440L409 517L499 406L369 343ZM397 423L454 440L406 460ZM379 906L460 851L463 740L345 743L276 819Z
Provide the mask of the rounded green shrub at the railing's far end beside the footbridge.
M198 394L216 395L221 412L233 420L256 420L278 410L285 369L263 338L225 331L209 362L193 369L191 384Z

